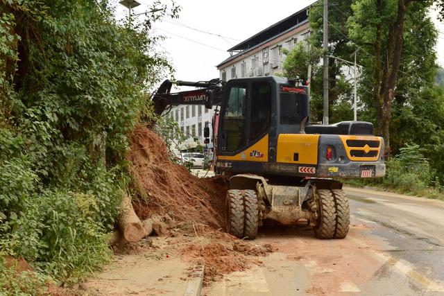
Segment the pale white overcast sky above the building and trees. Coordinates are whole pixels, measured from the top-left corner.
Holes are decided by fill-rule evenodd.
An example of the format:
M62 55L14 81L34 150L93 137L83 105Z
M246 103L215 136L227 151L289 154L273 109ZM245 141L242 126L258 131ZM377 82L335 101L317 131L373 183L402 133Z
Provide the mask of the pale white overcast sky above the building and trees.
M142 5L133 10L135 14L146 11L153 3L153 0L137 1ZM114 0L117 18L121 19L128 15L128 10L118 2ZM210 80L219 78L216 64L230 56L227 51L230 47L314 2L176 0L182 7L179 18L164 18L153 26L153 33L166 37L160 50L169 56L177 80ZM435 26L441 32L436 46L438 64L444 67L444 23L438 21L436 15L435 11L431 12Z

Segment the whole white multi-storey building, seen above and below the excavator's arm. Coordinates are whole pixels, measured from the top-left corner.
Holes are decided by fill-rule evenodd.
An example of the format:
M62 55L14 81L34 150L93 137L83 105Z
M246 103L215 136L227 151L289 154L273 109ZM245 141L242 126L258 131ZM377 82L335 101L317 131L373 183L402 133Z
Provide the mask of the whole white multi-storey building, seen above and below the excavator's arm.
M227 81L232 78L268 76L282 72L282 62L285 59L282 49L291 50L309 36L308 9L309 7L304 8L228 49L230 58L216 66L220 73L219 78ZM205 126L210 127L211 139L213 115L214 110L208 110L201 105L171 108L171 116L187 136L187 143L198 139L203 144Z

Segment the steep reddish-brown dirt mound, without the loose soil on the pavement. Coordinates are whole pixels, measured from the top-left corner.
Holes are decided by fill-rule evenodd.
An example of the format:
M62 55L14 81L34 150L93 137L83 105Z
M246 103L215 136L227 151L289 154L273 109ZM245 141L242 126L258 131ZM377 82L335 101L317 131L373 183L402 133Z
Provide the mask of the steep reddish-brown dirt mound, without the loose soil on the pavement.
M196 221L219 229L225 225L224 177L199 178L173 164L164 141L152 130L136 128L128 160L139 202L133 207L142 220L168 214L176 223Z

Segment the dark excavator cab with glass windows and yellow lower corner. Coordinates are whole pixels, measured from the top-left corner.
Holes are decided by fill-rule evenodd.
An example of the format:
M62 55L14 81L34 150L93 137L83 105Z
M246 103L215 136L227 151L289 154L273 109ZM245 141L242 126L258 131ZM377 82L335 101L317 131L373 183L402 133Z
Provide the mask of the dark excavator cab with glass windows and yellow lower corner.
M273 161L278 134L298 133L307 121L308 90L299 84L273 76L228 81L219 119L221 159Z

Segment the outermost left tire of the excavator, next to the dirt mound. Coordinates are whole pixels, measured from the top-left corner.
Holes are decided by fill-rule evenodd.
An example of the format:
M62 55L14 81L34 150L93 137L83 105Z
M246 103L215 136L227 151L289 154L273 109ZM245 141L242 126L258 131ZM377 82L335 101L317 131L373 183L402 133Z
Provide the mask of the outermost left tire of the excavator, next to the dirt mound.
M226 230L229 234L244 238L244 197L240 190L228 190L225 199Z

